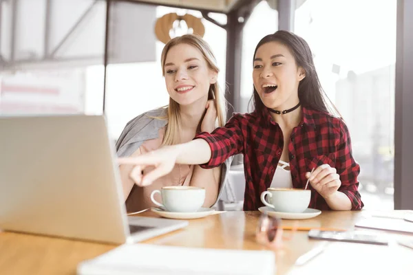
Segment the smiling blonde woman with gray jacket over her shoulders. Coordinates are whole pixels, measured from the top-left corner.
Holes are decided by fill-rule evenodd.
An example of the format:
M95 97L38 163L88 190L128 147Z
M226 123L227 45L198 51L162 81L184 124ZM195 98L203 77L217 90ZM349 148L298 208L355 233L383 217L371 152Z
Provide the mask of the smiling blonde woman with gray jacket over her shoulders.
M161 56L162 75L169 94L169 105L138 115L127 123L116 142L119 157L136 157L161 146L189 142L198 133L211 133L225 124L224 102L217 82L218 66L209 45L200 37L187 34L167 43ZM206 189L204 207L218 200L224 187L229 162L213 169L176 164L170 173L151 186L138 186L141 173L131 165L121 165L120 175L128 212L154 206L150 195L163 186L199 186ZM158 195L158 194L156 194ZM160 201L160 197L156 197Z

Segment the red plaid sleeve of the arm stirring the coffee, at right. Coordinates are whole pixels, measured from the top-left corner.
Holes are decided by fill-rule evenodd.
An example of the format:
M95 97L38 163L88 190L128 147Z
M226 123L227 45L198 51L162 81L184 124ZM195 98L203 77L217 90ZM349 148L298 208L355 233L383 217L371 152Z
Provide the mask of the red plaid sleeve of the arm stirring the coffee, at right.
M341 136L339 140L336 168L340 175L341 186L340 192L348 196L351 201L351 210L361 210L364 204L361 201L359 193L359 181L357 179L360 173L360 166L352 157L350 133L346 124L341 120L340 123Z

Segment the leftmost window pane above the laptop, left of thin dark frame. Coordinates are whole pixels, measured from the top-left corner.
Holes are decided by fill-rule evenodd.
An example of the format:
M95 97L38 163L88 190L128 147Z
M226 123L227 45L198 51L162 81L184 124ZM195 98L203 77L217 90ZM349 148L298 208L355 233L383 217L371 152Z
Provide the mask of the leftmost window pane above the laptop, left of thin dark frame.
M103 65L105 1L0 5L0 115L87 113L87 70ZM102 113L100 87L94 113Z

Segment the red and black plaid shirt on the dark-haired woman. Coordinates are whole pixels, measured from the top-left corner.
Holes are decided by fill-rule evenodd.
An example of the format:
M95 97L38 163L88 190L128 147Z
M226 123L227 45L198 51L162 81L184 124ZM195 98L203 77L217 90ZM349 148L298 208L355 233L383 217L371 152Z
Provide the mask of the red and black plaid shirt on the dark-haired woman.
M306 172L321 164L330 164L340 175L340 192L352 203L352 210L361 210L363 202L358 191L357 176L360 166L352 157L350 134L340 118L327 113L302 107L303 119L290 135L288 154L294 188L304 188ZM200 133L211 146L211 159L202 168L220 166L231 155L244 154L246 188L244 210L257 210L263 206L260 195L271 186L275 169L284 146L279 125L271 118L267 109L258 113L237 113L225 127L211 134ZM330 210L317 191L311 189L310 208Z

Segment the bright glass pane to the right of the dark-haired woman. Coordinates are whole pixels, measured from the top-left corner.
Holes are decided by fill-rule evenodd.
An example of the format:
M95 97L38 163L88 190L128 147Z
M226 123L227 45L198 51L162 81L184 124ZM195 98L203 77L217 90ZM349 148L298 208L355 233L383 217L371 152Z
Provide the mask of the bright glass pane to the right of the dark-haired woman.
M350 129L366 209L392 209L396 0L306 0L295 33Z

